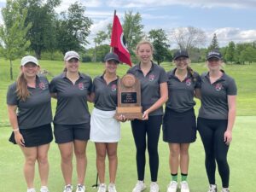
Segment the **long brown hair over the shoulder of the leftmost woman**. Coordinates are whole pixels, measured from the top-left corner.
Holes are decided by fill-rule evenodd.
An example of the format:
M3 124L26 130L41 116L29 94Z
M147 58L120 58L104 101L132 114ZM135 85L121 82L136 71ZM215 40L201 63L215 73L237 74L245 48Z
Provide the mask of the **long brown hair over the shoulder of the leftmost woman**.
M17 93L18 99L25 102L26 99L30 96L30 92L27 89L27 81L23 72L20 72L20 75L18 76L16 83L17 83L16 93Z

